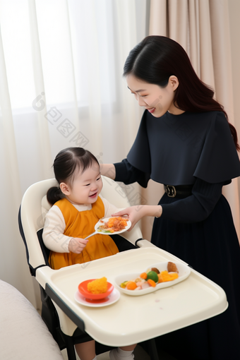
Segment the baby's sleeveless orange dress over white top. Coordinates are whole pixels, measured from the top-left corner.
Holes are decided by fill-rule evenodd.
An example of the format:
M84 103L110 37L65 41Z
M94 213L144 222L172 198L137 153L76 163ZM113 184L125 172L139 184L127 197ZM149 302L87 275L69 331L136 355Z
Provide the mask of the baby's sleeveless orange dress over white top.
M85 239L95 232L95 224L104 217L104 204L100 197L92 204L91 210L78 211L66 198L57 201L54 205L58 206L64 215L66 224L64 235L66 236ZM49 265L52 269L58 270L68 265L87 263L118 252L119 249L109 235L97 234L88 239L88 244L79 254L51 251Z

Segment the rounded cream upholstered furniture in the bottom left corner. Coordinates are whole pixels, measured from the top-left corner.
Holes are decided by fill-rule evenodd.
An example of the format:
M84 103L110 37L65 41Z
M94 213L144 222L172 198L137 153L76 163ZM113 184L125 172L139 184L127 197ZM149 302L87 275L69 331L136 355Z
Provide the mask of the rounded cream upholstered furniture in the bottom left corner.
M18 290L0 280L1 359L63 360L39 313Z

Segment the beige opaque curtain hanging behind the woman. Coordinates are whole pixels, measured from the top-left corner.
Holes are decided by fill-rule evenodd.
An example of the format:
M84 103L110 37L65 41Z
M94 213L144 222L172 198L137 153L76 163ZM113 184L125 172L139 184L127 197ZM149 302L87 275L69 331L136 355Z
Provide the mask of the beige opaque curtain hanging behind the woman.
M217 101L224 105L234 124L232 59L229 32L228 0L151 0L150 35L164 35L179 42L188 53L193 68L215 90ZM153 181L143 196L156 203L163 193ZM239 191L237 179L224 186L224 196L232 208L236 232L239 226ZM143 235L150 239L152 220L143 220ZM239 236L240 239L240 236Z

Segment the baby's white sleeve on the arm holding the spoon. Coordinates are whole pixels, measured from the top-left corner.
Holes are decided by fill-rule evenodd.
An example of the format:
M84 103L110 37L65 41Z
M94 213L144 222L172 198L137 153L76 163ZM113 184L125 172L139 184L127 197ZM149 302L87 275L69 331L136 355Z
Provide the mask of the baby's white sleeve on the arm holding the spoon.
M58 206L53 205L47 212L42 232L42 240L49 250L56 253L69 253L68 244L70 236L64 235L66 224L64 215Z

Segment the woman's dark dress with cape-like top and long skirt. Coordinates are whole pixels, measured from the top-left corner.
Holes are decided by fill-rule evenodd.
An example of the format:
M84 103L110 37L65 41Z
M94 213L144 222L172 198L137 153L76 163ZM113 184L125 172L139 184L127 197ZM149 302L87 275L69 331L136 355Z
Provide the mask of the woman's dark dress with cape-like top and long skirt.
M240 248L222 186L240 175L239 157L221 112L143 114L135 143L115 164L116 181L146 187L149 179L193 185L187 198L160 200L152 243L186 261L227 294L224 313L157 338L176 359L240 359Z

